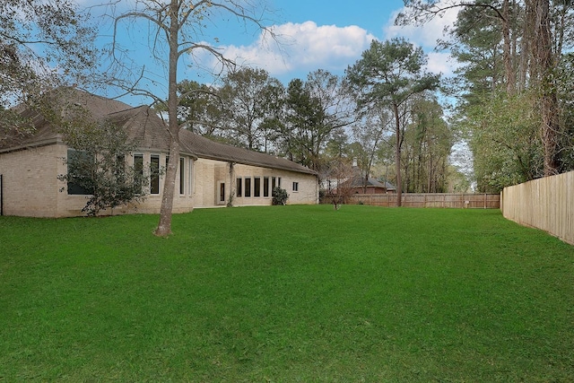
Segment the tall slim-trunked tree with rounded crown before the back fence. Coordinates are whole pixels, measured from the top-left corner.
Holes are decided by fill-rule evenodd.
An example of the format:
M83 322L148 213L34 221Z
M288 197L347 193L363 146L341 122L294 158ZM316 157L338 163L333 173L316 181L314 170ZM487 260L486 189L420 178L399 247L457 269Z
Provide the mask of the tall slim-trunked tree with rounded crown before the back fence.
M361 59L346 71L362 108L387 105L393 115L398 206L402 205L401 149L408 122L407 103L415 95L439 86L439 75L424 72L425 64L422 48L415 48L404 39L373 40Z

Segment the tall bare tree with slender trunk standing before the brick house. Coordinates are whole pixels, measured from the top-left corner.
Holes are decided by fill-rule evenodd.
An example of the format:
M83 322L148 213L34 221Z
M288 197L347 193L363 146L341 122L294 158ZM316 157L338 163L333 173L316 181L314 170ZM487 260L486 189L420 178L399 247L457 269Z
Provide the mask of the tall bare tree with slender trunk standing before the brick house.
M121 5L122 3L120 3ZM212 45L205 43L207 25L217 25L223 22L223 14L230 15L246 24L254 24L261 30L266 30L261 19L262 13L257 13L257 6L251 0L135 0L131 9L118 13L114 20L114 43L111 48L113 64L117 78L123 75L135 75L132 83L119 83L126 91L149 97L154 103L163 105L167 110L167 129L170 133L170 161L165 174L165 183L161 199L160 222L154 231L157 236L167 236L171 232L171 213L176 184L177 166L179 163L179 130L178 104L186 94L178 94L178 67L184 57L195 57L207 52L216 57L223 67L234 66L233 60L224 57L222 52ZM164 78L158 80L159 74L150 74L146 68L137 65L133 60L122 55L119 47L119 30L123 27L130 29L137 22L146 22L149 26L148 41L152 57L166 68ZM213 68L212 68L213 69ZM214 69L213 69L214 70ZM123 74L123 75L122 75ZM167 83L167 98L146 87L146 80Z

